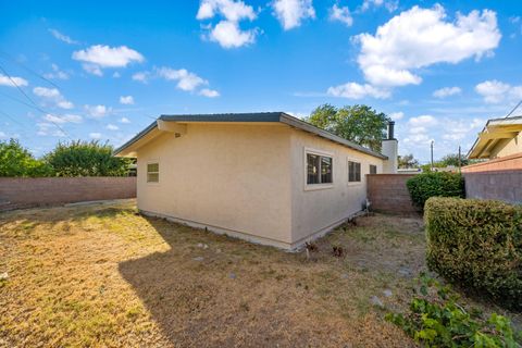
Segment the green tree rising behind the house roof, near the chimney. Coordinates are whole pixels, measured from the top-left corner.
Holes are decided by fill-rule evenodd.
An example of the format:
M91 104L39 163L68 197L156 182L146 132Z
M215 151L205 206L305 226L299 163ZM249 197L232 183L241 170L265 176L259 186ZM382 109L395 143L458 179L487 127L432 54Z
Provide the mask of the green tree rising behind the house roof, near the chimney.
M306 121L374 151L381 151L381 141L389 119L368 105L338 109L326 103L313 110Z

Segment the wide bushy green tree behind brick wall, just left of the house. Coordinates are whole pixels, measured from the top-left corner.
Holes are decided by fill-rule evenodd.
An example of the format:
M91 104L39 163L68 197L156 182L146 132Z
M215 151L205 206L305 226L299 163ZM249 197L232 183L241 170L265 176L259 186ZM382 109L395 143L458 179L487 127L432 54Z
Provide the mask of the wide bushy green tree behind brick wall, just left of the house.
M125 176L130 160L112 152L107 142L77 140L60 142L45 159L57 176Z

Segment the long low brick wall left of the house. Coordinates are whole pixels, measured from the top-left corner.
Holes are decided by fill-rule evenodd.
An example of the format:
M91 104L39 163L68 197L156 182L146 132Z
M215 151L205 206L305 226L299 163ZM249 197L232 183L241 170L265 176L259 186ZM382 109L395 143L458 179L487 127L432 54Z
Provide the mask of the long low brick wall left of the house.
M0 210L136 197L136 177L0 177Z

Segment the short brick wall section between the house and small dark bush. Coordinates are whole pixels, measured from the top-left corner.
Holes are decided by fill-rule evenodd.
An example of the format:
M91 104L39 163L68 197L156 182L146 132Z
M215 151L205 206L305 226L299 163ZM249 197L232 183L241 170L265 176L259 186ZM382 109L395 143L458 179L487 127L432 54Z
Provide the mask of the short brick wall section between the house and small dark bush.
M414 174L369 174L366 175L368 199L372 209L393 213L413 213L413 207L406 187L406 181Z

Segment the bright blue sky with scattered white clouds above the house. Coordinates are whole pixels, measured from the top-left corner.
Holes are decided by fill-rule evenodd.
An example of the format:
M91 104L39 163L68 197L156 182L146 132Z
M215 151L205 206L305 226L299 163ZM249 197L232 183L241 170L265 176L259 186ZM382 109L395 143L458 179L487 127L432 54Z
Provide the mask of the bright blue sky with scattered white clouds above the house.
M522 99L517 1L1 1L0 139L122 145L160 114L365 103L422 162ZM33 100L29 101L15 86ZM521 113L519 110L515 113ZM58 125L58 126L57 126Z

